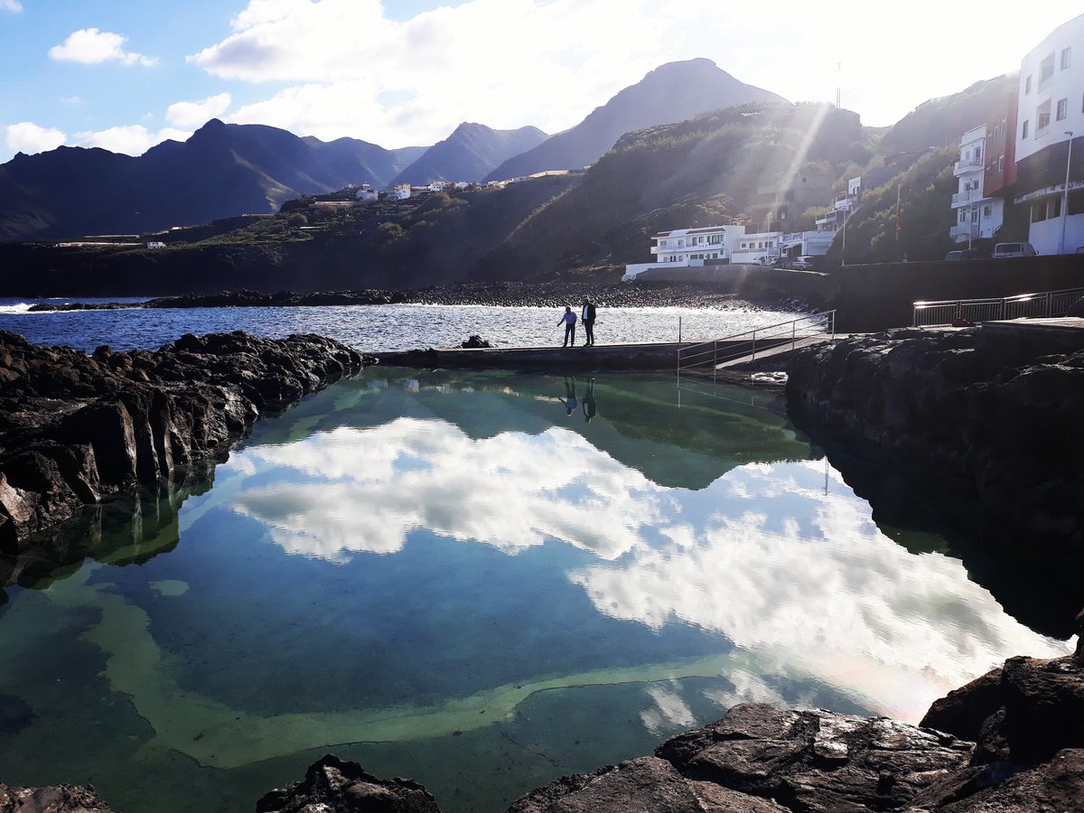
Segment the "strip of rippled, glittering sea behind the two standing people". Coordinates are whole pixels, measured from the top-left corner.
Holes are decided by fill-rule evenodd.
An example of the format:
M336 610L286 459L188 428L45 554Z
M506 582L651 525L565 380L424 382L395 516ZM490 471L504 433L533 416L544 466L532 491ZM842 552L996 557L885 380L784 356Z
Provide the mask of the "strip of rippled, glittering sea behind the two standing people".
M556 308L357 305L31 313L28 311L30 305L27 300L0 299L0 330L22 334L35 344L68 345L88 352L100 345L111 345L115 350L156 349L185 333L203 335L237 330L271 338L292 333L318 333L370 352L455 347L472 335L480 335L498 347L556 346L564 338L564 326L558 324L564 309ZM601 304L595 340L608 345L711 339L778 324L795 317L790 312L740 305L706 309L607 308ZM583 340L579 327L577 340Z

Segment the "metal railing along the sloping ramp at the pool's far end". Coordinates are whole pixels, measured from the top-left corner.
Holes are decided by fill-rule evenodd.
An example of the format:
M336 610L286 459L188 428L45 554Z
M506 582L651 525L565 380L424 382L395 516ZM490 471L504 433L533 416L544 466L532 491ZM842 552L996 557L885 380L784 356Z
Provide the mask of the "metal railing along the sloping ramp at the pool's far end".
M793 350L800 345L835 337L836 311L810 313L789 322L681 347L678 349L678 373L715 373L738 359L752 362L758 353L778 352L779 348Z

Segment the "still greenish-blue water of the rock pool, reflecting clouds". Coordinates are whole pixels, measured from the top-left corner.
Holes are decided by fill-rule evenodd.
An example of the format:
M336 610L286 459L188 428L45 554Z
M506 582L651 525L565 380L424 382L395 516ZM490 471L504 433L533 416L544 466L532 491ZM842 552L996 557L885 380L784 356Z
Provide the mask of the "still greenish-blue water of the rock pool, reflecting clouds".
M771 396L372 367L0 559L0 777L250 811L333 751L496 813L736 702L915 722L1070 650L876 515Z

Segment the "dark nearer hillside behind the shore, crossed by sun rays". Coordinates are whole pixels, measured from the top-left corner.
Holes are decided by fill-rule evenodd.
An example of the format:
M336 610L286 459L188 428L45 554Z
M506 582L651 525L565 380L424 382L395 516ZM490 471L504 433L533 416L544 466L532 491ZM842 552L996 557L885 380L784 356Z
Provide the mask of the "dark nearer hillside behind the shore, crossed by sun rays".
M862 176L846 258L842 235L829 251L836 262L940 259L951 247L958 137L1003 108L1009 83L1003 77L959 94L966 112L953 119L949 146L926 142L944 128L955 98L921 105L887 131L863 128L856 114L831 105L748 104L627 133L581 172L360 206L346 205L344 190L338 205L299 198L274 215L180 230L157 251L0 247L0 259L25 271L0 293L414 288L577 272L616 279L625 263L649 261L653 234L740 221L761 188L805 171L827 175L837 192ZM915 143L921 146L900 149ZM823 210L811 207L789 225L811 229ZM85 279L89 261L93 283ZM34 291L24 289L29 284Z

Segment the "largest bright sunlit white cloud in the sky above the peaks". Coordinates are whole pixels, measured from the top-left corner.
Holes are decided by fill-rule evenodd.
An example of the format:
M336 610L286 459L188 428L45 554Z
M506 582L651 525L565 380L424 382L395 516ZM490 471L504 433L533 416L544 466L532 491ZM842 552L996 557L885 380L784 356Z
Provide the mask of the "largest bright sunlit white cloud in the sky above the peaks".
M229 37L188 59L223 79L289 83L232 121L389 147L434 143L464 120L558 132L659 65L698 56L795 101L834 101L838 87L867 125L888 125L927 99L1015 69L1064 15L1029 14L1011 39L996 16L977 17L975 41L990 47L960 61L937 0L895 15L891 37L872 34L883 23L865 3L833 9L810 14L804 0L780 0L756 15L717 0L470 0L397 22L377 0L250 0Z

